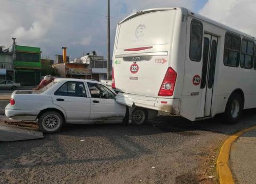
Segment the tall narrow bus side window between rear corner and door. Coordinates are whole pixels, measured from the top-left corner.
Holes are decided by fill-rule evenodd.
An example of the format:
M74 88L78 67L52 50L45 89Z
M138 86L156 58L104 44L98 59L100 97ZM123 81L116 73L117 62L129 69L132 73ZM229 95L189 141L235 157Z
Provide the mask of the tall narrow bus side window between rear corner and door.
M189 58L201 61L203 47L203 24L198 20L191 20Z

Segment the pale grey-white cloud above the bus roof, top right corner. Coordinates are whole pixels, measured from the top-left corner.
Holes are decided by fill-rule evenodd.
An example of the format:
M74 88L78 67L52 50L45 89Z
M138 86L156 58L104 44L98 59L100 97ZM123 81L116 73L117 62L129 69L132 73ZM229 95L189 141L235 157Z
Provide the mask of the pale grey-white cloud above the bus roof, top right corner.
M209 0L199 13L254 36L255 0Z

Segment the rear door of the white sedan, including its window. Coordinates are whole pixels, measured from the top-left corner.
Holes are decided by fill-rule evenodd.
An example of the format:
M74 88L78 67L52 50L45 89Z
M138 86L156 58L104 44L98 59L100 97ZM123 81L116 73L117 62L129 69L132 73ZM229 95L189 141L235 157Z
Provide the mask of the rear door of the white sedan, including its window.
M65 110L68 123L83 123L89 119L91 100L86 93L84 82L68 81L52 94L55 105Z

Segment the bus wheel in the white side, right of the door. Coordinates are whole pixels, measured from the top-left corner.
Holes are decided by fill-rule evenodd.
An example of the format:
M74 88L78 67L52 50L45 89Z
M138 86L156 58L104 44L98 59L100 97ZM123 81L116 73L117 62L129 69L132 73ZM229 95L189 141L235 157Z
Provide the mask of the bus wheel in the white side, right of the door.
M239 117L243 110L243 100L239 93L234 93L228 100L225 116L226 123L235 124L237 123Z

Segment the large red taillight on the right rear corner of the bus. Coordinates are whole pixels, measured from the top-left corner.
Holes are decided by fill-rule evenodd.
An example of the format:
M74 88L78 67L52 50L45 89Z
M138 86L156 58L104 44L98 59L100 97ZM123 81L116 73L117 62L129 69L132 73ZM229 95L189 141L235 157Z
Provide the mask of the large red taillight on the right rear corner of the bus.
M172 96L177 79L177 73L171 67L167 69L158 96Z

